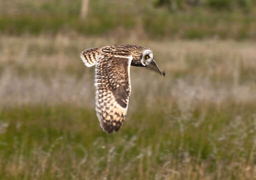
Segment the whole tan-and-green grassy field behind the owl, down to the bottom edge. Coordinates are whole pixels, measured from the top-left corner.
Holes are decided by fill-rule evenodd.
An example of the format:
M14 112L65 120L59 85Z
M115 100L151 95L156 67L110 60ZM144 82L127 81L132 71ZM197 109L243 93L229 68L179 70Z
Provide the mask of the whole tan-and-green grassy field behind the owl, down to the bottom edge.
M147 45L120 130L102 131L85 48ZM1 179L255 179L256 43L0 36Z

